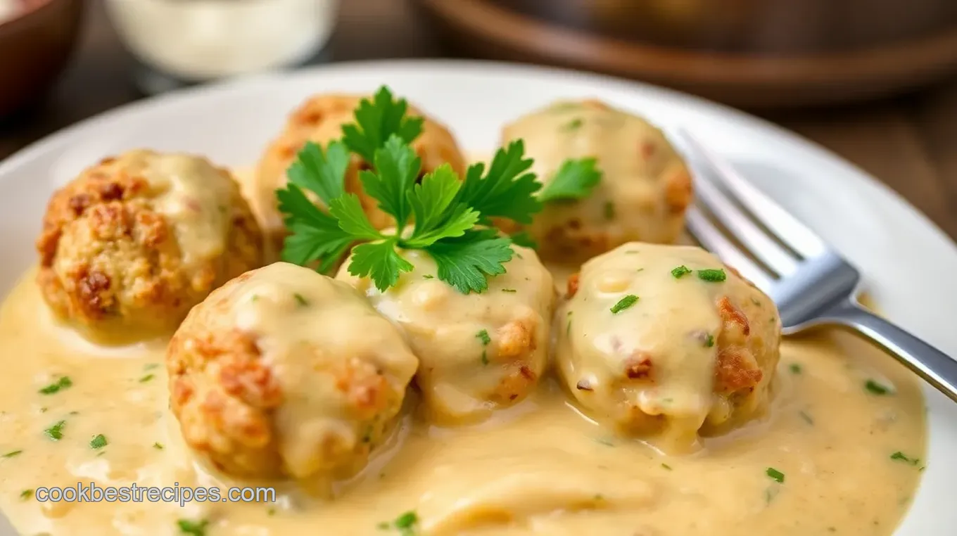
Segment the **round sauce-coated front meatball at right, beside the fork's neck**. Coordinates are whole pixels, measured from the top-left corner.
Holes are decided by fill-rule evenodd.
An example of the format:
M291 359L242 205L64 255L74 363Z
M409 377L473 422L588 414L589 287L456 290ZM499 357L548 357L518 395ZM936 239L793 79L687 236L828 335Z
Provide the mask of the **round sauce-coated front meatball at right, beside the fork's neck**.
M563 382L596 420L697 446L768 407L781 321L768 296L700 248L632 242L568 279Z

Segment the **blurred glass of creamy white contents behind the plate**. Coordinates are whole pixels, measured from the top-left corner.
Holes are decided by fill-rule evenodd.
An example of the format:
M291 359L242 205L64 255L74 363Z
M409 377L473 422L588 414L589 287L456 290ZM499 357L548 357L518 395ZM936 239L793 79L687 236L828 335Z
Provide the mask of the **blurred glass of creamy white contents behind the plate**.
M323 49L339 0L107 0L153 93L300 65Z

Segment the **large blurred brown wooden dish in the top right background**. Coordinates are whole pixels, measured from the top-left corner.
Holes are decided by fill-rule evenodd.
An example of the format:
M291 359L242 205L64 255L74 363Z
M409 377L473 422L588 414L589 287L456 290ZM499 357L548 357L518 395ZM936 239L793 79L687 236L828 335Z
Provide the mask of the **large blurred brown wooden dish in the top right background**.
M876 98L957 71L954 0L418 4L469 56L636 78L747 108Z

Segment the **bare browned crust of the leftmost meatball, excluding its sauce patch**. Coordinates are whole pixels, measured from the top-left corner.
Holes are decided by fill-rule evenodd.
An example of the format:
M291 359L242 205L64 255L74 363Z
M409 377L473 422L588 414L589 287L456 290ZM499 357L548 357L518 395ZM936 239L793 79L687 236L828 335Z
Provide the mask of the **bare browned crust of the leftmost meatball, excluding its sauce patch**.
M230 185L222 210L231 214L225 251L190 259L173 223L157 209L157 191L130 162L153 158L131 151L85 169L54 193L36 240L37 283L60 318L95 331L119 326L175 327L189 308L224 281L262 261L262 238L249 205Z

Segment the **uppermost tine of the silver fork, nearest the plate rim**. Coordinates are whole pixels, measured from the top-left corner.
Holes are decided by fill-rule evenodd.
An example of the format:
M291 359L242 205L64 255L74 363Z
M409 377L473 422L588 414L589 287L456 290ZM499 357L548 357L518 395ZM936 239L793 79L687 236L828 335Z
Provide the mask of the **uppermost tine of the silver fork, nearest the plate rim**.
M747 182L734 170L734 167L731 167L721 157L701 144L697 137L683 128L680 133L694 151L701 156L703 162L716 171L716 175L723 181L724 185L738 196L738 200L771 232L776 234L782 242L788 244L792 250L805 258L818 257L827 253L827 246L811 229L797 221L794 216L781 208L770 197Z

